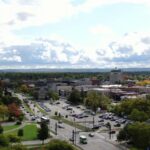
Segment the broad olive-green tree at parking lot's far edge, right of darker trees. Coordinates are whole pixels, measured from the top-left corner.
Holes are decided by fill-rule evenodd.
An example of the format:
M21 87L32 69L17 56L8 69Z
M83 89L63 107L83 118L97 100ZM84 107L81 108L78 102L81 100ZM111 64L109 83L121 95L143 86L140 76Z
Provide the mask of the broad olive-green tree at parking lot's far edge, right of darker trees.
M102 109L108 109L110 104L110 99L100 93L95 91L91 91L87 93L87 97L85 99L85 105L93 109L94 111L97 110L98 107Z

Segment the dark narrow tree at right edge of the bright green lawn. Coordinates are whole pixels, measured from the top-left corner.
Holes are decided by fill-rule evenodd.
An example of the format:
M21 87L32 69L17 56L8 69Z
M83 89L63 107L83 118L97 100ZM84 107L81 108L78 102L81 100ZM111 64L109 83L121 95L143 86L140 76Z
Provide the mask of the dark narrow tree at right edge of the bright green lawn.
M41 128L38 131L38 139L43 141L49 137L49 130L48 130L48 125L46 122L41 122L40 124Z

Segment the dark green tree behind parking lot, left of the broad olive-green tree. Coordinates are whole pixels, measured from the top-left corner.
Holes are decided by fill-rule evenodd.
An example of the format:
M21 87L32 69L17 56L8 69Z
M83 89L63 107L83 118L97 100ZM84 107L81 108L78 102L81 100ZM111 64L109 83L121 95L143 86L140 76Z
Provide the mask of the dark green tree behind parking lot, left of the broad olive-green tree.
M72 104L80 103L81 102L80 92L76 89L73 89L68 97L68 101L70 101Z

